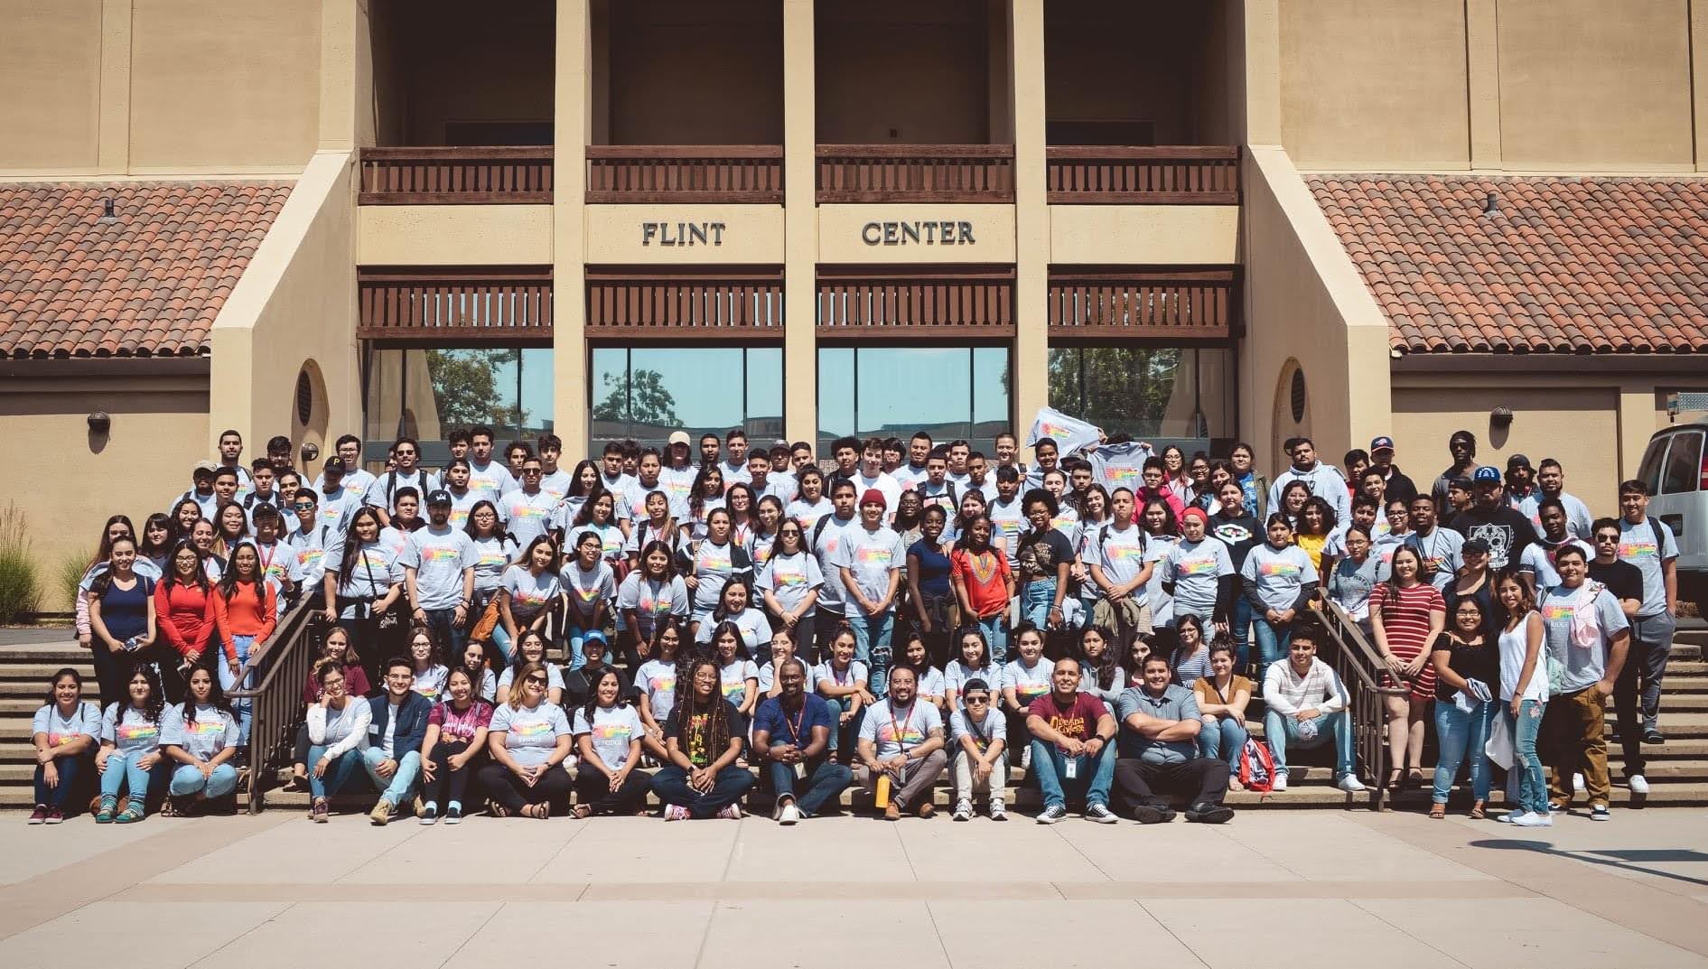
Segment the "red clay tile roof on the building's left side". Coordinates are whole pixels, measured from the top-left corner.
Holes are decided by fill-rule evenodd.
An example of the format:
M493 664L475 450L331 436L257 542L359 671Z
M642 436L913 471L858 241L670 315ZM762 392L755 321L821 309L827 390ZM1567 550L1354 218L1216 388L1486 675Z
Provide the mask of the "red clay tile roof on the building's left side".
M289 183L0 185L0 357L193 357ZM102 222L104 200L114 222Z

